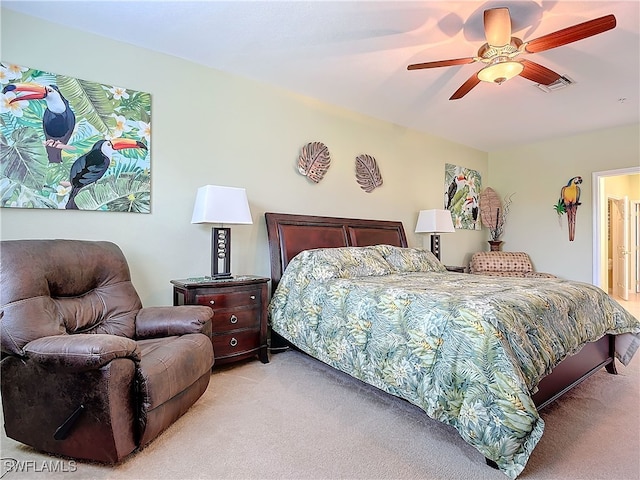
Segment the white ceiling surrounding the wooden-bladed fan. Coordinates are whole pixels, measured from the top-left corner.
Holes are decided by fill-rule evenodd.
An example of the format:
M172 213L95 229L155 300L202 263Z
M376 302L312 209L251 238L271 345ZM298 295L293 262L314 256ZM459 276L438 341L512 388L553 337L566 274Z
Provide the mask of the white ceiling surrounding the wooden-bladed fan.
M2 6L488 152L640 122L640 2L635 0L4 0ZM576 82L552 93L516 77L502 85L481 83L450 101L480 64L407 71L411 63L474 56L485 41L483 11L496 6L509 7L512 34L525 41L610 13L618 24L527 55ZM48 48L44 39L42 48Z

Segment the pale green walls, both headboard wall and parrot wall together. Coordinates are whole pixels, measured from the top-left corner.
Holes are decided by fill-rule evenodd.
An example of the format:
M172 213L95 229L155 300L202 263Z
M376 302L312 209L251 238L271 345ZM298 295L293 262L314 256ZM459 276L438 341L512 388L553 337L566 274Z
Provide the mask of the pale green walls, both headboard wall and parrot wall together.
M483 186L514 193L504 249L526 251L537 269L591 282L592 174L640 164L639 126L482 152L265 84L125 43L1 10L3 61L124 86L152 95L152 213L0 209L1 237L111 240L129 259L145 305L171 302L169 280L209 271L210 227L191 225L198 187L247 189L253 225L232 227L232 270L269 276L264 212L401 220L412 246L419 210L440 208L445 163L478 170ZM48 48L48 39L56 48ZM186 119L199 118L197 123ZM331 167L319 184L296 171L300 148L321 141ZM384 185L365 193L357 155L373 155ZM583 177L577 233L568 241L552 206ZM443 261L468 263L487 233L443 236Z

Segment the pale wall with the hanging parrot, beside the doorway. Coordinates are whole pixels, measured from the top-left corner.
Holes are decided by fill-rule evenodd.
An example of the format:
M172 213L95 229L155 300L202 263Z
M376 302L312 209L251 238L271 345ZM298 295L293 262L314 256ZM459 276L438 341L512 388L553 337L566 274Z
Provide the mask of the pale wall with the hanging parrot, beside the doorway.
M593 281L594 209L592 173L638 166L638 125L559 138L489 154L487 186L515 192L504 250L528 252L536 268L561 277ZM558 222L553 205L560 189L581 176L576 235L569 241L567 216ZM606 246L606 245L605 245Z

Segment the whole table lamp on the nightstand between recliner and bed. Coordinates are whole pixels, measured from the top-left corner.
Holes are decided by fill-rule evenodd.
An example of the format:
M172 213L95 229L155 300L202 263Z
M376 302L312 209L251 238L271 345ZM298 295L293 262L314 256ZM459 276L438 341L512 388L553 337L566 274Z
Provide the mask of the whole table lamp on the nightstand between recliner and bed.
M191 223L217 223L211 229L211 278L231 277L231 229L224 224L252 224L244 188L205 185L198 189Z

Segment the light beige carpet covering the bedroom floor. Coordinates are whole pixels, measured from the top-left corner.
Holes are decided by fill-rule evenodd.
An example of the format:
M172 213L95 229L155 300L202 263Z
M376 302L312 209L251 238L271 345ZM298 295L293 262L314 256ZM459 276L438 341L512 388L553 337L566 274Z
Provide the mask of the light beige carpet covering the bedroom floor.
M602 370L543 410L519 478L639 479L639 365ZM116 466L54 464L4 432L1 448L2 480L508 478L453 428L296 351L214 369L185 416Z

